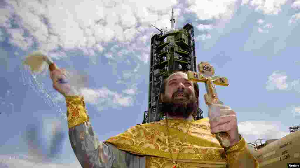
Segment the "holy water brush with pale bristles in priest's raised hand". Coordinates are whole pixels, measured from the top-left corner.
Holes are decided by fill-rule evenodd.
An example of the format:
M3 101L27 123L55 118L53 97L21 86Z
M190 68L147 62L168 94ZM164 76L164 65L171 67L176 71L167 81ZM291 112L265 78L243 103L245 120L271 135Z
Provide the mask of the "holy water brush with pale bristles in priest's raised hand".
M23 65L28 65L32 72L41 73L49 66L50 71L59 70L57 65L41 51L35 51L26 56ZM63 79L59 80L60 83L67 83Z

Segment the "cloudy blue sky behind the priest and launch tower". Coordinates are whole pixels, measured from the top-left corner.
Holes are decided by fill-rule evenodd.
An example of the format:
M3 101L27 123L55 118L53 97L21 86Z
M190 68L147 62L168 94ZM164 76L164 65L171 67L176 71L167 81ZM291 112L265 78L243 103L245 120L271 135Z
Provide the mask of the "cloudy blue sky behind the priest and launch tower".
M217 86L217 93L237 113L247 142L289 134L288 127L300 119L299 0L1 1L0 160L80 167L65 120L53 131L65 115L64 98L52 88L47 71L34 78L21 65L33 51L87 79L81 92L99 140L141 123L150 38L158 32L149 25L170 29L172 7L175 28L187 20L194 26L197 63L208 61L216 75L228 78L229 86ZM207 117L204 84L199 86ZM38 156L49 153L36 164Z

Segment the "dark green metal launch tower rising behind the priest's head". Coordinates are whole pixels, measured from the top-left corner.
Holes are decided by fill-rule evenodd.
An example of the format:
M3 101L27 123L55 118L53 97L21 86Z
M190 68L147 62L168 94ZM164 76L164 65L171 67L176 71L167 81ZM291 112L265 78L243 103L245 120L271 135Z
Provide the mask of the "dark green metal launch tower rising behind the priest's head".
M175 30L173 9L170 21L169 31L164 33L161 31L160 34L155 34L151 38L148 111L144 112L143 123L159 121L165 117L158 112L159 93L164 79L173 71L197 71L193 26L187 23L182 29ZM201 118L203 118L203 112L198 109L194 119Z

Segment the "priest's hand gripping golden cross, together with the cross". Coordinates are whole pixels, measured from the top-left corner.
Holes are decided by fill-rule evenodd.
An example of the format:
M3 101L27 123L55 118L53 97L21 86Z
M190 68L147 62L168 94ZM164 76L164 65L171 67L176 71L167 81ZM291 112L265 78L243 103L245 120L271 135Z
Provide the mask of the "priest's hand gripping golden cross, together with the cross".
M236 113L229 106L224 106L217 98L215 85L228 86L225 77L214 76L214 67L208 62L198 64L198 71L188 71L188 80L204 82L206 94L205 103L208 105L208 117L211 126L211 133L216 134L221 146L224 148L233 146L239 142L238 125Z

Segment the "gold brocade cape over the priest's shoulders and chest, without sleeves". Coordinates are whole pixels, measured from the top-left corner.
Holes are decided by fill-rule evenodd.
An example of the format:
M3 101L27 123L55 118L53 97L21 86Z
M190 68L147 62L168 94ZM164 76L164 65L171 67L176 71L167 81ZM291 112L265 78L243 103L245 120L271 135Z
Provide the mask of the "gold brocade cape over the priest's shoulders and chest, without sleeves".
M184 120L168 119L168 124L170 136L166 120L161 120L133 126L106 142L132 154L146 155L146 168L173 168L172 161L176 161L177 156L180 168L227 167L227 156L215 135L211 134L208 118L187 123ZM187 130L189 124L190 129ZM184 136L187 139L179 153ZM242 137L239 143L245 143Z

